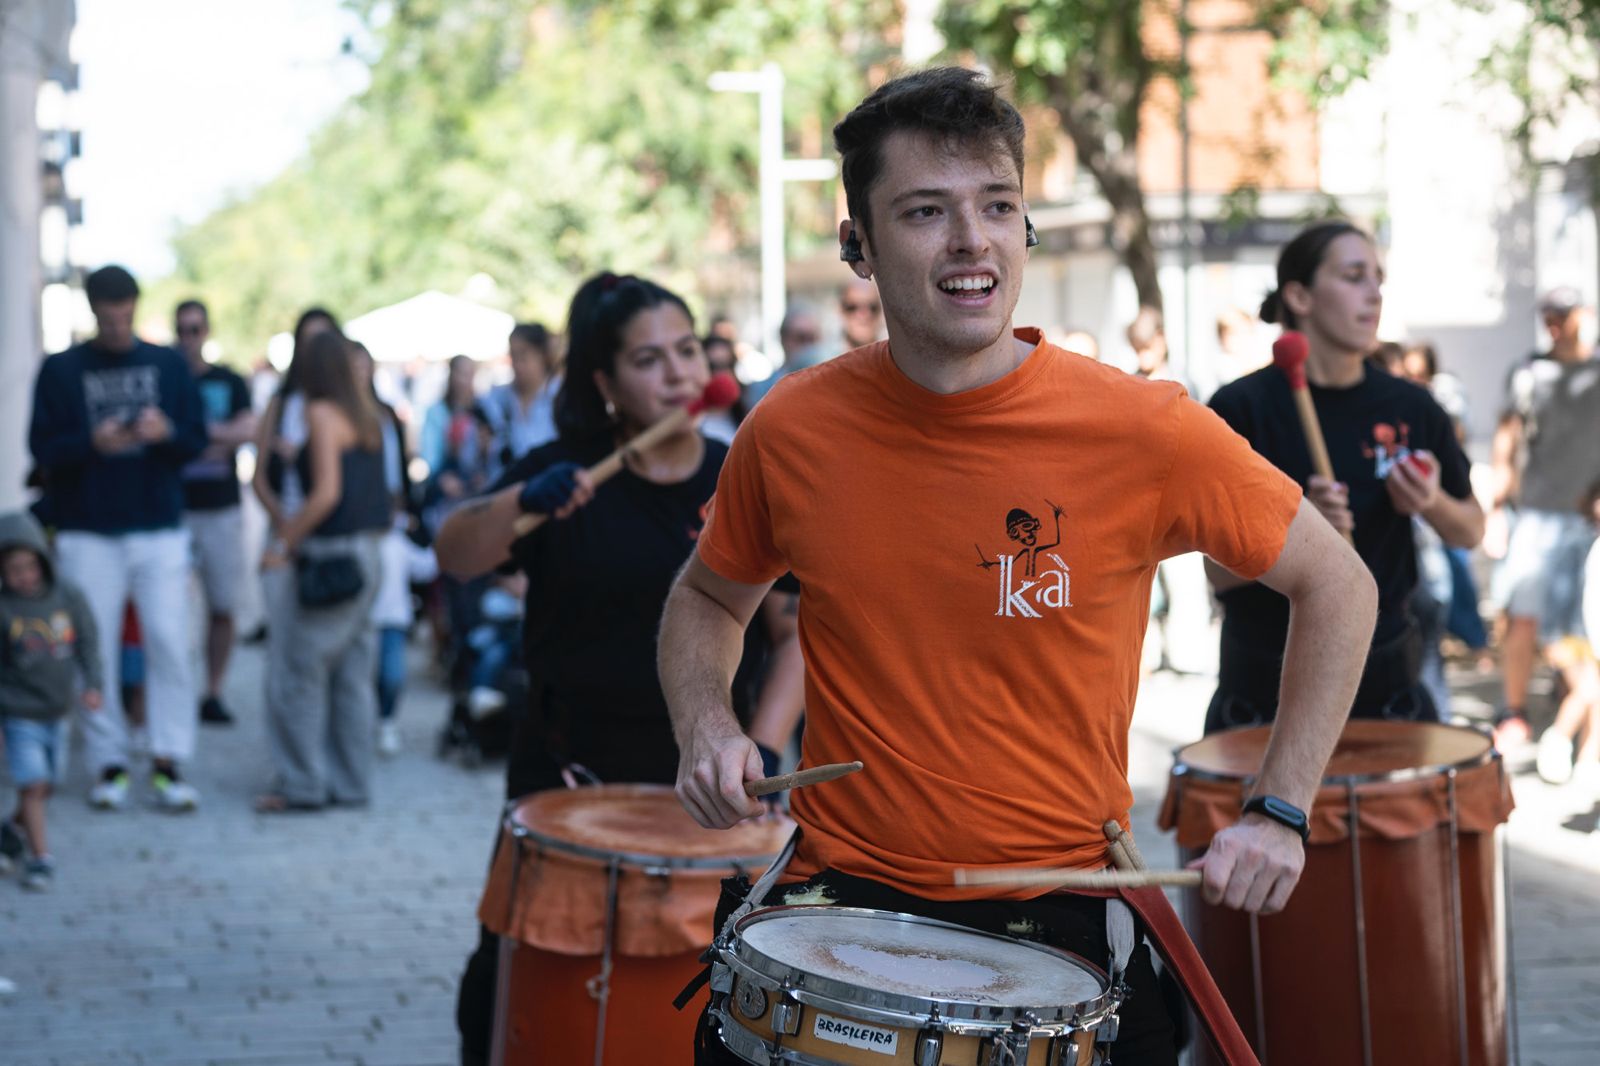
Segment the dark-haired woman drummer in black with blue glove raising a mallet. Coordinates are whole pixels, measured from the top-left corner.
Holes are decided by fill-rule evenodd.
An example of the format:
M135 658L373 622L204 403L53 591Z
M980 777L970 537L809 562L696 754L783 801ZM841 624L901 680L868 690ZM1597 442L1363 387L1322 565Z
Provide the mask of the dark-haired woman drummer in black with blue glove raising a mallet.
M560 437L520 458L438 531L440 565L456 575L506 563L528 575L530 706L512 743L507 797L560 787L563 775L662 784L677 778L677 744L656 680L656 629L728 450L690 426L629 455L603 487L590 483L584 467L698 399L709 378L680 296L638 277L587 280L568 320L566 371L555 399ZM550 520L518 539L514 525L523 514ZM768 749L786 746L803 698L795 599L768 599L771 645L763 656L747 642L736 680L736 711ZM757 696L752 679L763 672L763 658L766 683ZM464 1063L486 1061L494 952L485 933L462 975Z

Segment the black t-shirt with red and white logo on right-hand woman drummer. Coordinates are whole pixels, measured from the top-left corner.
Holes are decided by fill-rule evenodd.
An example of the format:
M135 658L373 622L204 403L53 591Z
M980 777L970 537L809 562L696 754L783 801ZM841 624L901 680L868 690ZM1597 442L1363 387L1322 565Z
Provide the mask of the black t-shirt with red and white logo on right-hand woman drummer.
M1438 456L1440 488L1456 499L1472 491L1467 456L1456 442L1450 416L1438 402L1410 381L1366 368L1349 389L1310 386L1317 421L1328 442L1333 474L1349 485L1355 519L1355 551L1378 583L1374 645L1406 626L1406 602L1416 587L1416 544L1411 519L1389 503L1384 477L1411 451ZM1229 383L1211 397L1222 416L1250 445L1302 487L1314 474L1306 434L1294 410L1288 379L1266 367ZM1264 584L1222 592L1222 642L1282 653L1288 634L1288 600Z

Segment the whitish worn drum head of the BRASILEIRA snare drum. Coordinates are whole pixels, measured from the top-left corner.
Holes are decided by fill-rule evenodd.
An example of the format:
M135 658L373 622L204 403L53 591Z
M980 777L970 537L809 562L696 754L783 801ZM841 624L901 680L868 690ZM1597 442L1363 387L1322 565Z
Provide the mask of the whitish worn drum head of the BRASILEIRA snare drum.
M1077 956L1008 936L854 908L770 908L739 922L741 960L870 992L986 1008L1051 1010L1106 991ZM806 983L811 986L811 981Z

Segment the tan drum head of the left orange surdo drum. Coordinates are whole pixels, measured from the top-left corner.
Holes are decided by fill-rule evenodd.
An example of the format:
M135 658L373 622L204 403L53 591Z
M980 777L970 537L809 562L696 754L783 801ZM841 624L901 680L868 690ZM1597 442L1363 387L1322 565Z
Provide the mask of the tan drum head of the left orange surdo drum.
M768 863L794 831L782 815L704 829L666 784L534 792L512 802L506 826L557 852L661 866Z

